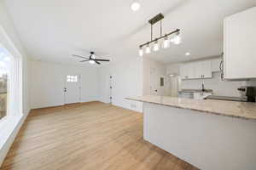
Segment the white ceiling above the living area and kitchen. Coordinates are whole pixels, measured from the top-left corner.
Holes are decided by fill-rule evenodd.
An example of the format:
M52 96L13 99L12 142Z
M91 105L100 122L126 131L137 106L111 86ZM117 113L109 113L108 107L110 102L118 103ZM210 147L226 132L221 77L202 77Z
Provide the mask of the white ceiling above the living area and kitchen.
M183 43L144 57L172 63L216 56L223 51L224 17L256 5L255 0L142 0L133 12L132 0L5 2L32 59L74 64L79 59L71 54L86 56L90 50L114 60L137 57L138 45L150 38L148 20L160 12L163 32L180 28Z

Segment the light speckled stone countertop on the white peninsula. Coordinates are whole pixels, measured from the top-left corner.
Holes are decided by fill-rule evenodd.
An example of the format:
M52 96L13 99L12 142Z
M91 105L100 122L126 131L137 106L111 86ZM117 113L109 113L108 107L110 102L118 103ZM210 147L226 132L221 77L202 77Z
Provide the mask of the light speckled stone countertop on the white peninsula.
M183 99L168 96L146 95L126 98L156 105L166 105L193 111L201 111L219 116L232 116L256 120L256 103L226 101L217 99Z

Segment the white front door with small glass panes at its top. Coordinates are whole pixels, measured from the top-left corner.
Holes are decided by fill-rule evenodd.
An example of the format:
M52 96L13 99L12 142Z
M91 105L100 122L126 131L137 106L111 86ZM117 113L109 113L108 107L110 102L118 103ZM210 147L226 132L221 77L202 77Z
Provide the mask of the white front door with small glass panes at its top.
M80 102L80 76L67 75L64 86L64 102L65 104L73 104Z

